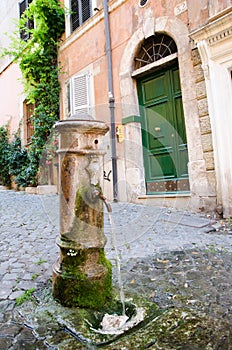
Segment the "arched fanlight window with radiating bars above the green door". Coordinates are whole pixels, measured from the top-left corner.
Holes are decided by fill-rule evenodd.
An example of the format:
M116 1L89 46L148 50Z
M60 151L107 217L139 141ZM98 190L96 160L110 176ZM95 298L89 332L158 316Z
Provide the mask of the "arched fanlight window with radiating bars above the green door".
M156 62L177 52L175 41L166 34L155 34L146 39L135 57L135 69Z

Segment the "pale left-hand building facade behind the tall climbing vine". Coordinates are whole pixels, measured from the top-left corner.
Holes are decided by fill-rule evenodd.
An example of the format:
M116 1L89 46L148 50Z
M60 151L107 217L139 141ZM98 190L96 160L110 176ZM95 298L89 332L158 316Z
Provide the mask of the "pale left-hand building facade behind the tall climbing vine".
M0 48L9 49L11 37L17 32L17 21L32 0L9 0L2 3L2 20L0 23ZM28 38L19 33L22 39ZM2 53L0 51L0 53ZM6 126L10 134L20 132L22 144L31 141L33 126L31 116L34 106L27 103L23 92L22 74L19 65L12 57L0 57L0 125Z

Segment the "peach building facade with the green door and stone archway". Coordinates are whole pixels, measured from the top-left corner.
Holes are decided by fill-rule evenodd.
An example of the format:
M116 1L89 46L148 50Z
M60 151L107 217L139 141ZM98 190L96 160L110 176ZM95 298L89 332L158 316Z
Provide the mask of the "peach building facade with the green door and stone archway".
M85 112L115 127L118 200L231 215L231 1L65 5L79 6L82 21L66 16L61 115ZM110 135L105 146L112 199Z

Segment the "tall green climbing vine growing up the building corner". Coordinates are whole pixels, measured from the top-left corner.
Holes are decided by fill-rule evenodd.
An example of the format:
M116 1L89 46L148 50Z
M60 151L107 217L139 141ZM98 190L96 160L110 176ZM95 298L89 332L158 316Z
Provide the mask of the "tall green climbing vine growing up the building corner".
M28 19L34 21L34 29L27 28ZM29 34L26 42L19 38L19 31ZM27 101L35 105L30 148L25 152L21 150L20 156L18 154L17 162L23 165L19 172L14 168L12 173L21 186L37 184L45 143L59 119L57 48L63 32L64 9L61 4L57 0L33 0L19 21L17 33L11 38L10 49L4 51L19 63Z

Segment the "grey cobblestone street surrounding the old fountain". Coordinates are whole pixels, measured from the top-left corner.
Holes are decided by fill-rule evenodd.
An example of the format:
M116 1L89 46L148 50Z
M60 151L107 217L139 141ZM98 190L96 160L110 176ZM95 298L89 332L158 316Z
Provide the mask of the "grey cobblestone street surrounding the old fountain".
M59 349L45 346L13 317L16 300L51 279L59 254L58 201L55 195L0 190L1 350ZM112 209L114 249L107 213L105 233L115 285L118 253L126 290L161 308L184 305L232 324L230 227L225 230L207 216L175 209L129 203L112 203ZM231 338L223 346L217 349L232 349Z

